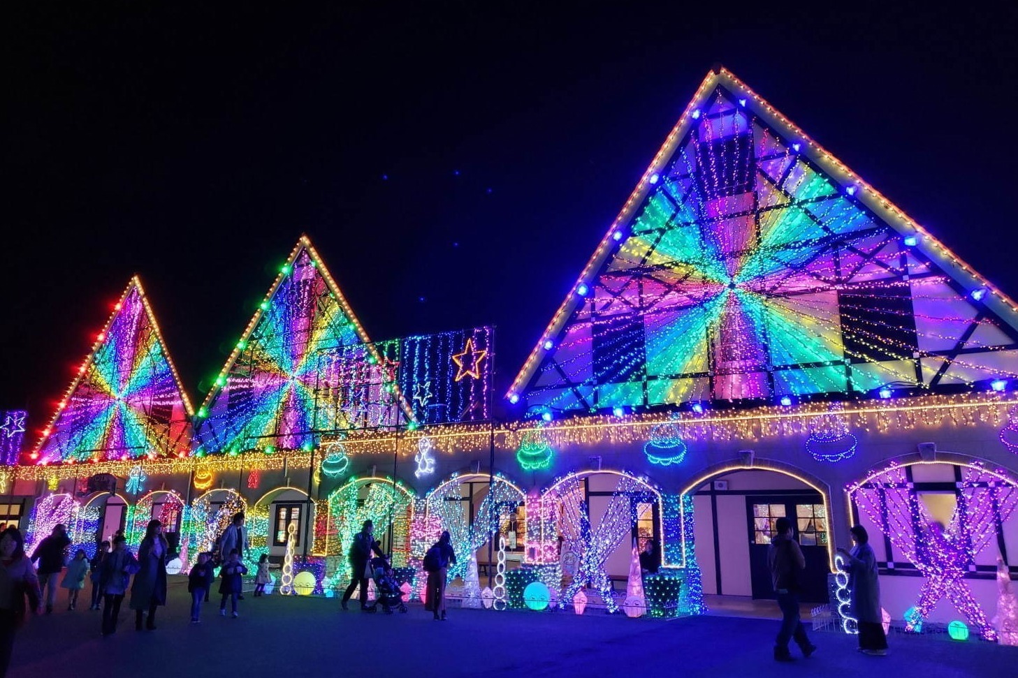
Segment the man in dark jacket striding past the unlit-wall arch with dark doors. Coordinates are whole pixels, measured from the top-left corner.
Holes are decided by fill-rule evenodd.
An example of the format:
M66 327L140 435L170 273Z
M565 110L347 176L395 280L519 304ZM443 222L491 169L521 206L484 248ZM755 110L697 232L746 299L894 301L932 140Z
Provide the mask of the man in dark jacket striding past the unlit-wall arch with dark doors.
M771 568L771 581L778 596L781 608L781 628L774 642L774 658L779 662L791 662L788 641L795 638L803 657L816 652L816 645L809 641L806 629L799 618L799 579L806 568L799 543L792 539L792 521L782 517L775 520L775 534L768 549L767 560Z

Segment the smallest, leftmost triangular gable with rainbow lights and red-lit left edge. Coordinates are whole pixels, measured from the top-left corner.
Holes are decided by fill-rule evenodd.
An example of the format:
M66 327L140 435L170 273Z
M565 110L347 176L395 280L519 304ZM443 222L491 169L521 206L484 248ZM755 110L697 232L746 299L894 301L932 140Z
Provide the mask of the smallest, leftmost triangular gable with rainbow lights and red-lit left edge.
M135 276L32 458L51 464L186 456L192 414Z

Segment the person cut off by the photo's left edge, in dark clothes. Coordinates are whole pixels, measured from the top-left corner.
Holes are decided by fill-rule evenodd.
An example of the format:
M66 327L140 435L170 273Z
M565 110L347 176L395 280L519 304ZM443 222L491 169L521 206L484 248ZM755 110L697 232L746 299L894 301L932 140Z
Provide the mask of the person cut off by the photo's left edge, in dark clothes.
M24 538L11 526L0 532L0 678L7 675L14 633L24 620L25 597L33 614L42 613L39 577L24 555Z

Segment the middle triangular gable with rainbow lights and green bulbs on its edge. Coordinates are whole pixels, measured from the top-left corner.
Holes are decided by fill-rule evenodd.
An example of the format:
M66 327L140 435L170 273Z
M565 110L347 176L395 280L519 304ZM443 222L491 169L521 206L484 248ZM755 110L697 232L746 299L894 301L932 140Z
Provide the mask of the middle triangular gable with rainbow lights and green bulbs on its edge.
M412 416L387 349L301 236L199 410L196 452L310 450Z

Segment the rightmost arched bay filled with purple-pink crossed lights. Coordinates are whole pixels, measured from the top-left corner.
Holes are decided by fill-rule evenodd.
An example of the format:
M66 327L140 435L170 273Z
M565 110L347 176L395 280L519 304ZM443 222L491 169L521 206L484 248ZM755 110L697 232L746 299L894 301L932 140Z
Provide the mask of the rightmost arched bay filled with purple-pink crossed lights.
M986 639L997 611L998 558L1018 574L1018 479L958 454L907 458L848 489L869 532L881 601L910 630L964 620Z

